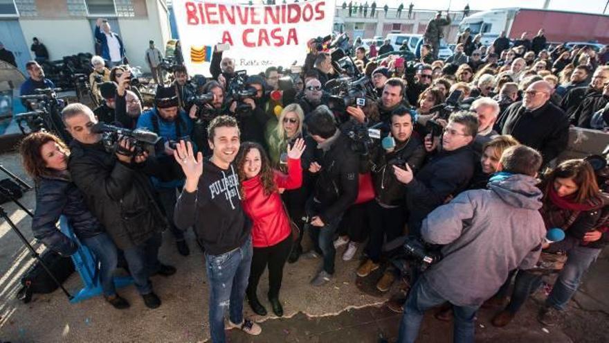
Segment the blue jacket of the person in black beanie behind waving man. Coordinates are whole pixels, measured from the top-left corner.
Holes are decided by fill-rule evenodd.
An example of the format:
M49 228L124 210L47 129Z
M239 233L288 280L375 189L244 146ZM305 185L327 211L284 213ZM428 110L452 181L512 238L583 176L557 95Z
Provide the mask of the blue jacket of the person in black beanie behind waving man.
M163 118L158 115L158 110L156 109L156 107L153 107L152 109L149 109L140 115L136 128L144 128L146 130L158 134L158 137L161 137L161 139L163 140L163 144L166 141L178 141L179 139L184 139L185 137L188 137L188 139L190 139L190 137L192 136L193 127L192 120L183 110L179 110L178 116L180 122L180 132L178 132L178 129L176 128L178 119L176 118L175 121L163 120ZM154 124L155 122L156 125ZM178 137L178 133L181 134L181 137ZM193 150L197 151L197 146L194 146L194 142L192 144ZM172 161L173 157L171 157L169 160ZM184 184L182 179L173 180L169 182L160 182L155 177L152 177L152 183L154 184L154 186L163 188L178 187Z

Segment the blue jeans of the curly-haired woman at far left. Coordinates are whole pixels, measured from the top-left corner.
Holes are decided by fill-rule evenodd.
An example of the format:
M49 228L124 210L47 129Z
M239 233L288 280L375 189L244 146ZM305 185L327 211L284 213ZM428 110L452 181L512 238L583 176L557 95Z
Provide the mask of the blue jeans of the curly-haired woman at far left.
M116 294L113 273L118 263L118 254L116 245L114 245L110 236L102 232L90 238L81 238L80 241L91 250L100 264L100 282L102 283L104 296L109 297Z

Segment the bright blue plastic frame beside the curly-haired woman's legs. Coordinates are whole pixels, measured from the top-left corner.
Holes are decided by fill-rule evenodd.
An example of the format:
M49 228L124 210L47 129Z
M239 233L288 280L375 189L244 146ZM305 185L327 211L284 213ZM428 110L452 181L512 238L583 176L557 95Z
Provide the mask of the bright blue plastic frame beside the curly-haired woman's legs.
M78 243L78 250L71 257L74 267L78 274L80 274L82 283L84 283L84 288L78 291L70 302L76 304L82 300L102 294L97 258L91 254L91 250L89 250L88 247L85 247L80 243L80 240L78 240L72 227L69 225L67 218L64 216L60 218L60 230L64 235ZM125 287L131 283L133 283L131 276L114 277L114 285L116 285L116 288Z

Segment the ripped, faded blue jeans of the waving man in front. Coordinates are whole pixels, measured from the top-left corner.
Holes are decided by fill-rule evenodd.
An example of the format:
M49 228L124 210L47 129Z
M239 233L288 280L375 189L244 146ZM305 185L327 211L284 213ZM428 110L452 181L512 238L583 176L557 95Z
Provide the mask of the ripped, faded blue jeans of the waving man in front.
M224 312L233 324L243 322L243 299L252 262L251 236L241 247L220 255L205 254L210 283L209 320L211 341L226 342Z

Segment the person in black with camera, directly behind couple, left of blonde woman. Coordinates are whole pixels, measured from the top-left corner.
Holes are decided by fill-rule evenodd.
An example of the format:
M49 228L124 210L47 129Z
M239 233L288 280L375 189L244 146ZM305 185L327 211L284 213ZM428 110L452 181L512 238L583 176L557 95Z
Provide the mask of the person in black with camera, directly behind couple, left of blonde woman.
M264 139L264 130L266 122L271 116L266 112L268 98L264 96L264 79L260 76L249 76L245 87L256 89L256 94L252 98L244 98L244 112L240 112L237 107L237 101L230 104L230 112L237 117L239 128L241 128L242 141L252 141L259 143L264 147L264 150L269 151L266 147L266 139Z

